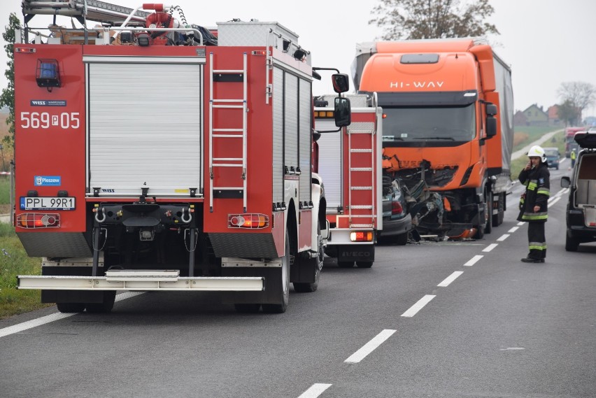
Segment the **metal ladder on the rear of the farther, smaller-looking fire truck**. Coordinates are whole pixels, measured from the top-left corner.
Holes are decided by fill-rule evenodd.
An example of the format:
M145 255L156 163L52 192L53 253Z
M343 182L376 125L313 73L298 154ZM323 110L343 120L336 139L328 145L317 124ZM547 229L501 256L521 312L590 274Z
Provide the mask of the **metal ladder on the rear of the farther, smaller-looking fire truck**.
M367 134L370 136L370 145L369 148L352 148L353 147L353 140L352 137L357 134ZM364 167L353 167L353 155L357 153L368 153L370 162ZM349 169L349 181L348 184L350 186L349 194L349 203L350 207L348 209L348 217L350 222L350 228L374 228L374 218L375 215L375 195L374 192L376 190L375 178L372 173L374 170L374 131L372 129L360 129L360 130L350 130L348 127L348 169ZM352 186L352 180L357 173L368 173L371 176L370 185L364 186ZM364 201L367 204L354 204L354 196L355 191L368 191L370 194L370 201ZM365 195L364 195L365 196ZM370 203L370 204L368 204ZM369 214L354 214L353 210L368 210ZM362 222L357 222L358 219L367 218L371 220L370 224L363 224Z

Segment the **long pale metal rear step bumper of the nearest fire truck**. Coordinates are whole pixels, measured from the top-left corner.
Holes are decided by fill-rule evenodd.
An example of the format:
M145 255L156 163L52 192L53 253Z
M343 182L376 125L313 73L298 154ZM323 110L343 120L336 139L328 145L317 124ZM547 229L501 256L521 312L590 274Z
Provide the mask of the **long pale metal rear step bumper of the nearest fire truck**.
M264 278L248 276L178 277L176 271L106 272L106 276L32 276L20 275L19 289L41 290L120 290L120 291L191 291L191 292L261 292Z

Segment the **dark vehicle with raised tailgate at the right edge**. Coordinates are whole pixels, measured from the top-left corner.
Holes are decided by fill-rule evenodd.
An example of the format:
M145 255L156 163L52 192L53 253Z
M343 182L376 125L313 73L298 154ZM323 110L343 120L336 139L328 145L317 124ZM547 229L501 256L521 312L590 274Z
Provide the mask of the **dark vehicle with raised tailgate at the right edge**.
M571 178L561 177L569 187L565 250L574 252L580 243L596 241L596 132L579 132L575 141L583 148L577 155Z

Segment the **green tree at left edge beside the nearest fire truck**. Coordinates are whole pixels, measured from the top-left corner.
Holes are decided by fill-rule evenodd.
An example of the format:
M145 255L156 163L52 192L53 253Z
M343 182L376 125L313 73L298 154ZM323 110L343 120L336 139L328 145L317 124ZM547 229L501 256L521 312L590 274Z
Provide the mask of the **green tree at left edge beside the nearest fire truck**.
M0 94L0 108L8 106L8 118L6 118L6 124L8 125L8 136L2 139L3 143L13 145L15 142L15 55L13 49L15 47L15 27L21 24L15 13L8 15L8 26L6 27L2 37L6 41L4 50L8 55L8 62L6 65L8 69L4 71L4 76L8 80L8 87L2 90Z

